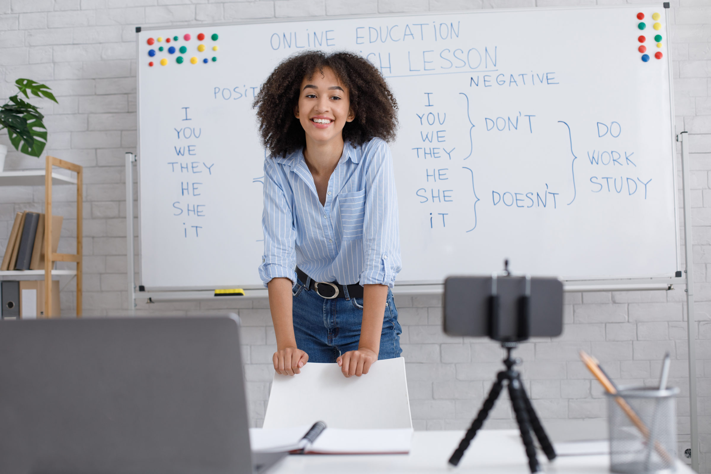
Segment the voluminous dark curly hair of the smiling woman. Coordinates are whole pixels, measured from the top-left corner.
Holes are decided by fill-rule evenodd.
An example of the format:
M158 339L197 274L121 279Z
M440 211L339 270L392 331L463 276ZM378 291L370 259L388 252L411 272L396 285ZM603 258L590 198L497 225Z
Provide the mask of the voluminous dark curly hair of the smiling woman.
M360 145L375 137L395 139L397 102L375 66L362 56L345 51L304 51L274 69L252 104L260 120L262 144L272 156L287 156L306 146L306 132L294 117L294 107L299 102L304 77L310 79L316 71L322 74L324 68L331 68L349 90L355 119L343 126L343 141Z

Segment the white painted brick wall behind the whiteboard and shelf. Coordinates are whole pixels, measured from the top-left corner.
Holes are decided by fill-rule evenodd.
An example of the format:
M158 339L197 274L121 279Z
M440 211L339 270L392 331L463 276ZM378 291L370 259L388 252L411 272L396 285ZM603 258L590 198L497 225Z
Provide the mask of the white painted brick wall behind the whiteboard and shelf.
M126 238L124 152L135 151L136 80L134 27L145 24L238 21L407 11L619 4L620 0L0 0L0 99L14 94L17 77L53 88L59 104L44 102L50 129L47 153L85 166L86 314L124 315ZM636 3L631 0L628 3ZM697 288L699 429L701 472L711 473L711 1L672 3L674 97L678 130L690 137L693 240ZM8 144L6 134L0 143ZM41 168L36 158L11 152L6 168ZM75 244L71 190L56 188L55 212L65 216L60 252ZM43 188L0 188L0 252L16 210L41 210ZM73 283L62 293L65 313L74 308ZM486 340L442 334L439 296L397 296L407 358L412 416L417 429L461 429L476 414L501 367L501 350ZM685 294L653 292L566 295L565 333L534 340L517 352L525 384L540 415L585 423L604 419L602 389L577 360L592 352L620 383L652 383L665 351L673 357L670 383L678 403L680 448L689 446ZM139 313L205 314L237 311L244 321L245 374L252 424L264 417L275 348L267 302L232 300L139 304ZM488 427L512 426L505 399ZM570 421L572 419L574 421Z

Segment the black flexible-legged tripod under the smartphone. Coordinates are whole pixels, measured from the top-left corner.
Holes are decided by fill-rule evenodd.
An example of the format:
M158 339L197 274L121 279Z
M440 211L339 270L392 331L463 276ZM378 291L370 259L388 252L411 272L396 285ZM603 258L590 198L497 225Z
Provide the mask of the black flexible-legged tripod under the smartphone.
M471 423L471 427L466 431L464 439L461 440L459 446L456 448L454 453L449 458L449 463L451 465L458 465L461 456L464 456L464 451L469 448L469 443L476 436L476 432L481 429L489 411L493 408L493 404L496 403L496 399L501 390L503 389L503 384L506 382L508 385L508 397L511 399L511 405L513 405L513 411L516 414L516 422L518 423L518 429L521 432L521 440L523 440L523 445L526 448L526 456L528 456L528 467L532 473L538 472L538 459L535 456L535 446L533 445L533 438L531 437L530 429L533 428L535 436L538 438L540 446L543 448L543 452L548 459L552 460L555 458L555 450L553 449L548 436L540 424L538 415L536 415L533 405L531 405L530 399L523 388L523 382L521 382L521 377L518 370L513 370L513 366L516 365L520 360L513 359L511 357L511 350L515 349L518 343L515 342L502 342L501 347L506 349L507 355L503 363L506 365L506 370L498 372L496 375L496 382L493 382L491 390L486 397L486 402L483 403L479 414Z

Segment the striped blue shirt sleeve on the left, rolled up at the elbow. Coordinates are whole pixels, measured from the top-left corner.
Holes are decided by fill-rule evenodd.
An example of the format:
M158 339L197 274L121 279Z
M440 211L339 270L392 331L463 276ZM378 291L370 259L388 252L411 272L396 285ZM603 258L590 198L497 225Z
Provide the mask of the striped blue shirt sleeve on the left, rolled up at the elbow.
M259 269L264 286L278 277L288 278L296 284L296 229L291 200L284 191L287 183L279 168L272 158L264 161L264 255Z

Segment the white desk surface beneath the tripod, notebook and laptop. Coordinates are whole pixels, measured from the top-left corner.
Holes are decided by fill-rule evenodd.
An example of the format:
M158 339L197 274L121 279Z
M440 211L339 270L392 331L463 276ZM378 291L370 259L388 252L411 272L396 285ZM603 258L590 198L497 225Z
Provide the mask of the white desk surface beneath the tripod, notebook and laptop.
M464 436L464 431L415 431L409 455L380 456L287 456L270 474L405 474L405 473L501 473L529 474L528 459L516 430L483 430L466 450L459 467L447 460ZM542 470L555 474L609 473L608 456L559 456L549 463L538 454ZM678 474L694 474L678 461Z

